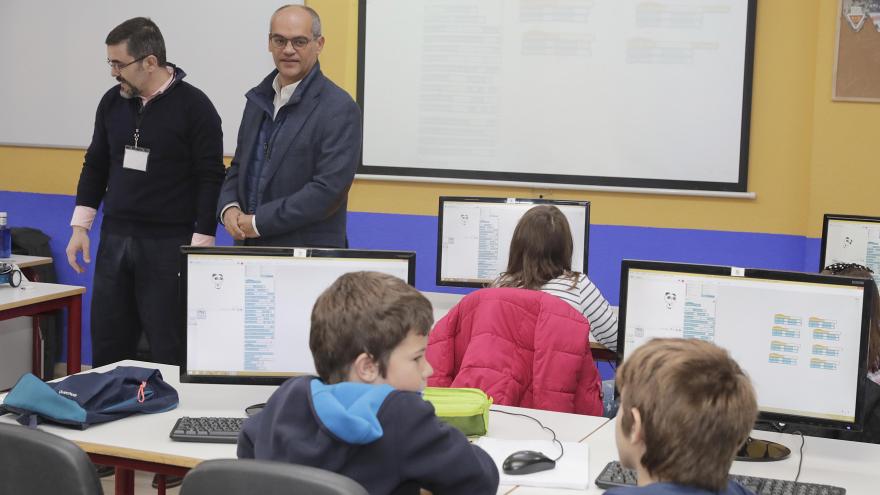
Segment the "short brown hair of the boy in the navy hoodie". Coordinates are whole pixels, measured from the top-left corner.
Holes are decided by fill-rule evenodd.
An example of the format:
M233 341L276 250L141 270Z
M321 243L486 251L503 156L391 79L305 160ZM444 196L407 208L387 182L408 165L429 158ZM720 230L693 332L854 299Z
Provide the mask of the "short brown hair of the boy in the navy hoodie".
M427 335L433 324L431 303L403 280L378 272L346 273L315 301L309 348L324 383L346 381L364 352L384 377L391 351L409 332Z

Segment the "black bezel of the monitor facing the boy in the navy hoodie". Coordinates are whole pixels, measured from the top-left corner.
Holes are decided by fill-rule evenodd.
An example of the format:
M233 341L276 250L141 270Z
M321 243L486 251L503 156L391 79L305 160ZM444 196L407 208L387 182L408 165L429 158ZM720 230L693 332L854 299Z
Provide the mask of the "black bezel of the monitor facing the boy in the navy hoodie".
M190 254L233 255L233 256L273 256L297 258L367 258L367 259L404 259L408 261L407 283L416 284L416 253L413 251L390 251L373 249L339 249L339 248L293 248L267 246L223 246L223 247L180 247L180 276L178 285L178 331L181 333L181 383L212 383L224 385L281 385L291 376L242 376L242 375L193 375L188 373L186 365L187 331L187 259ZM297 375L293 375L297 376Z

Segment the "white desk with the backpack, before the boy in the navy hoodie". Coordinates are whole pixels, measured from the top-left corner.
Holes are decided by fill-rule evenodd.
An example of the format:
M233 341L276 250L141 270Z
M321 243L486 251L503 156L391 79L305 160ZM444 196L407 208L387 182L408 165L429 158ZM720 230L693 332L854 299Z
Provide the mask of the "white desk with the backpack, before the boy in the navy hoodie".
M182 476L203 460L234 458L235 445L175 442L168 437L168 434L181 416L243 417L245 407L265 402L276 389L274 386L180 383L177 366L132 360L102 366L92 371L107 371L117 365L160 369L165 381L176 388L180 395L178 408L162 414L138 414L119 421L95 425L84 431L61 426L40 426L42 430L76 442L89 453L94 462L117 466L117 494L132 493L134 486L132 470ZM561 440L570 442L580 441L608 421L606 418L576 414L508 406L492 407L529 414L553 428ZM491 436L508 439L549 439L549 434L528 418L499 413L490 413L490 415ZM0 416L0 422L12 423L14 420L10 416ZM513 488L515 487L500 487L498 493L507 493Z

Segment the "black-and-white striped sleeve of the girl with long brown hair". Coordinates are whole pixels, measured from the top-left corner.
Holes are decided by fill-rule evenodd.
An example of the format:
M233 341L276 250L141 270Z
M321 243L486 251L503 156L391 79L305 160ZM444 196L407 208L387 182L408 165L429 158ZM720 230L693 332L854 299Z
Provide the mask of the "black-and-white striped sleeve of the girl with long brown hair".
M543 292L553 294L571 304L590 322L590 333L605 347L617 350L617 315L611 305L586 275L581 274L572 286L571 279L554 278L541 287Z

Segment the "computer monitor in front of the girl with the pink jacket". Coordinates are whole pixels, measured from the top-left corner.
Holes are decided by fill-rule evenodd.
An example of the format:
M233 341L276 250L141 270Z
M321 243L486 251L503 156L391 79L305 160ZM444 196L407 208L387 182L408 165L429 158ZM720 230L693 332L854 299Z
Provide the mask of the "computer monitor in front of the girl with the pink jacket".
M590 202L441 196L437 215L437 285L483 287L507 269L513 230L537 205L553 205L568 219L572 270L587 273Z

